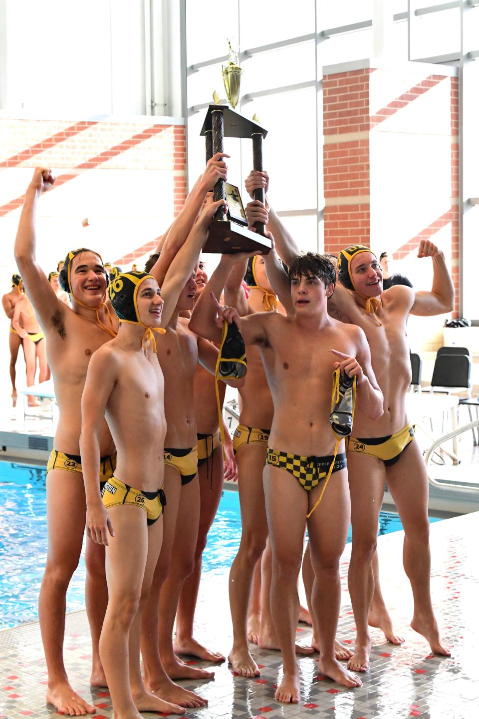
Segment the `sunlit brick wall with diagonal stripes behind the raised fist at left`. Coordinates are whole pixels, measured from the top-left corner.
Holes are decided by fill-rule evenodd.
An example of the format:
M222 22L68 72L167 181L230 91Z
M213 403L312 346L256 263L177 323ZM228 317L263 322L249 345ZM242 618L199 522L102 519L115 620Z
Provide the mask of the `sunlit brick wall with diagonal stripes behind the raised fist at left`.
M14 231L32 168L38 165L52 168L57 175L55 188L39 204L39 232L42 227L50 228L50 252L43 248L47 267L56 265L58 257L71 249L72 242L65 237L70 228L75 242L80 239L79 221L92 207L91 229L84 236L90 233L96 242L101 237L101 245L96 246L104 258L125 265L144 255L186 197L185 127L159 120L0 118L0 228L6 244L5 273L11 275L14 269Z

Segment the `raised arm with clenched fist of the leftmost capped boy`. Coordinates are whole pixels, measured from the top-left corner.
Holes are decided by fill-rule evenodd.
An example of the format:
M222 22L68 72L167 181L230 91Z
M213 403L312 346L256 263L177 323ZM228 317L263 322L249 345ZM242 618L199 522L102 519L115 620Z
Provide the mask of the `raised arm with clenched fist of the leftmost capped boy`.
M39 324L45 331L50 327L50 318L55 310L65 309L65 305L55 295L45 273L39 266L36 257L37 237L35 223L37 201L42 193L50 190L55 183L55 176L47 168L36 168L32 182L25 193L22 214L20 215L15 239L15 260L22 275L25 290L32 305L37 311ZM60 311L62 311L60 309Z

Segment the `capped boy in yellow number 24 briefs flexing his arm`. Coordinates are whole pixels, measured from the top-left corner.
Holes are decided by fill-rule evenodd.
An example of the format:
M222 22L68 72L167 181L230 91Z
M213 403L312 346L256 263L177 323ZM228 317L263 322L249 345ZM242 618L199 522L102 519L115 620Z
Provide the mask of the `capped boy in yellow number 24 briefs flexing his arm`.
M348 666L361 672L369 667L371 560L376 549L378 512L385 482L404 527L404 569L414 596L411 627L427 639L434 654L450 655L440 641L432 609L427 472L414 439L414 427L408 423L405 401L411 381L406 342L409 313L427 317L450 312L454 305L454 286L444 253L435 244L421 240L418 257L432 257L431 291L415 292L404 285L395 285L383 292L376 256L368 247L348 247L338 258L338 275L343 287L339 287L332 298L345 321L358 325L366 333L373 370L384 395L383 416L373 423L359 407L354 418L355 436L348 440L353 524L348 581L357 628L355 654Z

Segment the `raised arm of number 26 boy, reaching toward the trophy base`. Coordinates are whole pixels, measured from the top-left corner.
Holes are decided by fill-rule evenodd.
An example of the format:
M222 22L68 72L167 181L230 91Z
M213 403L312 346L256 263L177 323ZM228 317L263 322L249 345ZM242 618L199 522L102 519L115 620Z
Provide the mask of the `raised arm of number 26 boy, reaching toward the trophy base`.
M205 204L205 207L201 211L198 221L193 225L185 244L182 245L180 250L177 252L177 255L175 255L171 265L168 267L167 273L164 277L164 282L161 285L162 298L164 300L162 327L166 327L169 320L172 318L181 290L185 287L185 283L188 278L191 277L200 255L201 248L208 237L208 227L210 226L210 221L213 219L215 211L221 204L224 205L225 201L218 200L216 202L208 202ZM157 263L154 265L150 273L157 280L157 266L161 260L162 255L160 255Z

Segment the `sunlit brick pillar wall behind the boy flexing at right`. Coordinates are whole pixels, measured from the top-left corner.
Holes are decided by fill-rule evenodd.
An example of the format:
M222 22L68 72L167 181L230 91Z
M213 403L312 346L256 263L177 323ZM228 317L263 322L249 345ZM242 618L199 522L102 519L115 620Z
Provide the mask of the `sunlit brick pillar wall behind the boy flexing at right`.
M324 68L325 251L361 243L412 260L432 239L450 262L457 315L457 78L428 67Z

